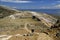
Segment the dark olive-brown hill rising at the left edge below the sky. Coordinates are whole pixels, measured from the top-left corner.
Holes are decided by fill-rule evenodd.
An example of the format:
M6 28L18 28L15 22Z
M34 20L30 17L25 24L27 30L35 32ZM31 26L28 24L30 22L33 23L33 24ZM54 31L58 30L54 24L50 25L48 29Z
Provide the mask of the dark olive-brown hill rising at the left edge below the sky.
M0 18L6 17L14 13L15 13L15 10L11 10L7 7L0 6Z

